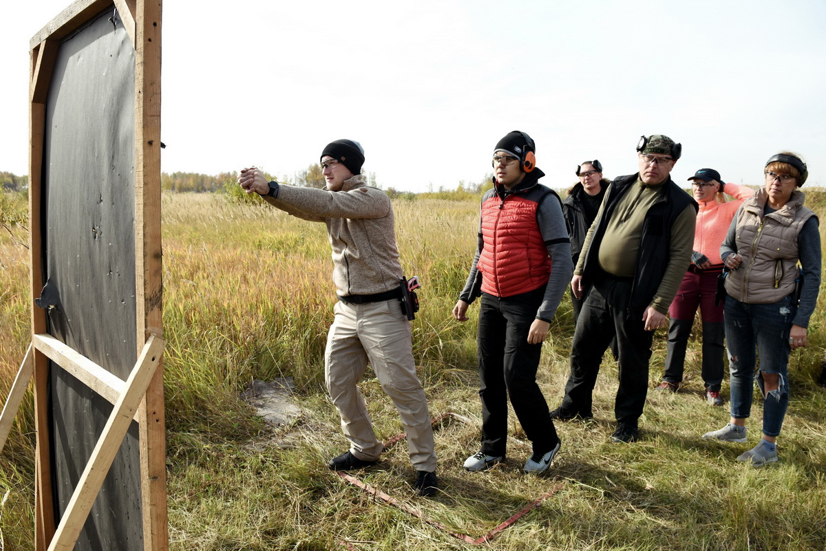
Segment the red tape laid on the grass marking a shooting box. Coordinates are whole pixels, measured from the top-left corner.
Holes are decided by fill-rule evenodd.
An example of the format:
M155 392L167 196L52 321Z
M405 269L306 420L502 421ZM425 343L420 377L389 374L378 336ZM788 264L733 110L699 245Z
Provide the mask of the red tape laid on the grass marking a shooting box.
M430 421L430 423L432 425L436 425L437 423L444 421L444 419L447 417L453 417L453 419L457 419L458 421L462 421L463 423L467 423L468 425L472 424L472 420L468 419L468 417L463 417L453 412L447 412L443 415L440 415L439 417L435 417L433 420ZM393 436L390 440L387 440L387 442L385 442L385 449L387 449L391 445L396 444L396 442L404 439L405 437L406 433L404 432L402 432L399 435ZM542 502L548 499L548 497L553 496L555 493L559 492L565 486L564 481L556 481L556 483L553 484L553 487L551 487L551 489L548 490L548 492L545 492L544 494L536 498L533 502L530 502L528 506L523 507L514 516L511 516L508 520L505 520L500 525L497 525L496 528L487 532L487 534L479 536L478 538L473 538L470 535L461 534L458 532L454 532L453 530L450 530L446 525L442 524L441 522L437 520L431 520L418 509L415 509L414 507L411 507L409 505L406 505L405 503L400 502L395 497L387 495L381 490L378 490L377 488L370 486L368 483L363 483L361 480L355 478L352 475L340 471L337 471L336 474L339 475L339 478L342 478L347 482L353 484L354 486L363 489L365 492L368 492L371 496L377 497L378 499L382 500L382 502L385 502L388 505L392 505L398 509L401 509L401 511L405 511L406 513L409 513L412 516L415 516L417 519L424 520L427 524L433 526L437 530L442 531L445 534L452 535L454 538L461 539L463 542L472 545L481 545L495 538L496 535L498 535L502 530L505 530L511 525L514 525L517 520L520 520L520 518L527 515L530 511L533 511L535 508L542 505ZM344 540L340 541L339 544L341 544L344 547L347 547L348 549L354 549L351 546L351 544L345 543Z

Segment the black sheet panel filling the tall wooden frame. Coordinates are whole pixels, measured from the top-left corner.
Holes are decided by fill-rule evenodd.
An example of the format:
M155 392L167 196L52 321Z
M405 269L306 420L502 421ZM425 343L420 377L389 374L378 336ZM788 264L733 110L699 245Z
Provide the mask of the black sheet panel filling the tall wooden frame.
M45 104L45 290L51 335L120 379L137 357L135 49L114 7L60 44ZM48 290L48 292L47 292ZM112 404L50 365L55 516ZM75 549L143 549L138 426L133 421Z

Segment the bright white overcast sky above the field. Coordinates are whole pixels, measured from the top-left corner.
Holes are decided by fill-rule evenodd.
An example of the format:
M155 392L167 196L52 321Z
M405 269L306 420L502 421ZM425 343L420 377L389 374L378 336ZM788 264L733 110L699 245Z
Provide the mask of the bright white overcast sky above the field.
M2 2L0 171L26 174L31 36L71 2ZM641 134L762 183L772 154L826 185L826 2L192 2L163 16L164 172L292 175L356 139L384 187L477 182L523 130L543 182L637 171Z

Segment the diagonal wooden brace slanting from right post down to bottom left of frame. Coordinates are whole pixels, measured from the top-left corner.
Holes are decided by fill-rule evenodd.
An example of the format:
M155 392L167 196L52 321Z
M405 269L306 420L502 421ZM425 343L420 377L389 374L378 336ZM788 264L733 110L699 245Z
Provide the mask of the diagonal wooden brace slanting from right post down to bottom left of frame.
M103 480L121 448L126 431L129 430L132 418L135 417L146 388L160 363L164 344L165 341L161 337L152 336L146 341L144 350L135 363L129 379L126 379L124 392L112 408L112 414L106 426L103 427L103 432L97 440L86 469L83 469L83 474L80 475L78 485L74 488L72 498L55 530L55 537L51 540L49 551L72 551L74 549L74 544L78 540L80 531L83 530L83 524L86 522L89 511L92 510Z

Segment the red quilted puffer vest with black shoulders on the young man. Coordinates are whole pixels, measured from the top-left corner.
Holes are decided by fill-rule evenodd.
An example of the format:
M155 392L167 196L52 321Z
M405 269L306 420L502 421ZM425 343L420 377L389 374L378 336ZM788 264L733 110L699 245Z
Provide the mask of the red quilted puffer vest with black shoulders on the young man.
M504 298L548 284L551 257L539 233L536 210L551 194L535 184L504 199L494 192L482 201L484 247L477 268L483 292Z

